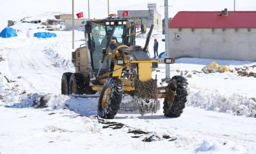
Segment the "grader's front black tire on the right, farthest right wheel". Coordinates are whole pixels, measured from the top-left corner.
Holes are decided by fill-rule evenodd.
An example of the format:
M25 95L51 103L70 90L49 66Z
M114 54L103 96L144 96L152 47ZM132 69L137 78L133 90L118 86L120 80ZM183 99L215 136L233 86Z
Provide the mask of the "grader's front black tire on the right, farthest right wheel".
M168 89L175 92L174 99L169 95L164 98L164 115L166 117L180 117L187 102L187 79L183 76L173 76L168 84ZM169 106L169 104L171 104Z

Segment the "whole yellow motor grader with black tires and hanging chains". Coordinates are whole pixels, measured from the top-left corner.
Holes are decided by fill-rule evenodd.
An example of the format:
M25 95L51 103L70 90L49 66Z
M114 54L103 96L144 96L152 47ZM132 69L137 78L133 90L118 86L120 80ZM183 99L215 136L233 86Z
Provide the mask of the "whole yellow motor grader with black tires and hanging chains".
M138 23L141 24L139 32L146 33L139 18L110 16L86 21L86 46L72 52L75 73L63 73L61 94L100 92L98 116L105 119L113 119L119 109L128 110L124 103L127 96L133 98L132 108L139 110L141 115L156 112L160 108L158 98L164 98L164 115L180 117L187 102L187 79L173 76L167 86L158 87L157 79L152 78L152 64L172 64L174 59L151 60L148 56L154 25L148 32L145 46L136 46Z

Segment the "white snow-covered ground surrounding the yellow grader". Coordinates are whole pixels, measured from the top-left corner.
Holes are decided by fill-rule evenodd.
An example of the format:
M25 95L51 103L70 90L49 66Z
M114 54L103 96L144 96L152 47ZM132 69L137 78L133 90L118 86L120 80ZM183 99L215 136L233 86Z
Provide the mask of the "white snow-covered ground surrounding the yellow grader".
M144 117L98 119L97 97L61 95L63 72L74 72L72 31L28 37L28 28L44 31L33 28L38 26L18 23L17 37L0 37L0 153L256 153L256 78L238 74L256 73L256 62L179 58L170 76L183 74L189 82L181 117L166 118L161 108ZM164 35L154 31L151 55L154 38L164 52ZM75 30L75 48L83 39L83 31ZM136 42L144 46L146 39ZM232 71L204 74L201 69L213 61ZM156 74L158 82L166 77L165 64Z

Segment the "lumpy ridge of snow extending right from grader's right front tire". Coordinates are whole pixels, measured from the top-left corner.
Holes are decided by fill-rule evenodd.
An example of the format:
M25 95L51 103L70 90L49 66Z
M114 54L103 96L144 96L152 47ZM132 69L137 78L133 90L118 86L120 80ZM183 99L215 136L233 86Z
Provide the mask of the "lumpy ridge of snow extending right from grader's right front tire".
M218 92L189 91L188 106L205 108L216 112L256 117L256 102L240 94L220 94Z

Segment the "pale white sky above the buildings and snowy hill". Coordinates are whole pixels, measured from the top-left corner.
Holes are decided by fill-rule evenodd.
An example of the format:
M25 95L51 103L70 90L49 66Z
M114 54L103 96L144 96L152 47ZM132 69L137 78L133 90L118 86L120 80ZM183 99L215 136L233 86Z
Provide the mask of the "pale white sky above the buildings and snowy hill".
M90 18L104 18L109 12L117 13L117 10L148 9L148 3L156 3L157 11L164 19L164 0L94 0L90 3ZM234 0L172 0L168 1L168 16L174 17L178 11L222 11L227 8L234 11ZM43 7L42 7L43 6ZM45 6L45 7L44 7ZM255 11L255 0L236 0L236 11ZM84 17L88 17L88 1L74 0L74 13L83 11ZM71 0L1 0L0 1L0 29L7 26L7 20L20 21L23 17L33 16L42 12L72 13Z

